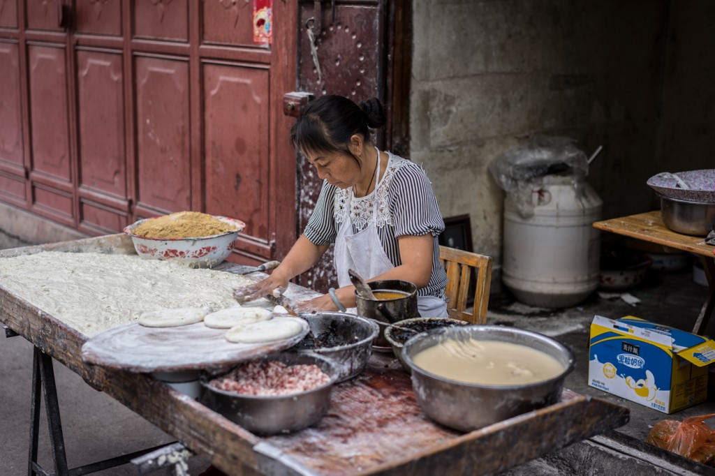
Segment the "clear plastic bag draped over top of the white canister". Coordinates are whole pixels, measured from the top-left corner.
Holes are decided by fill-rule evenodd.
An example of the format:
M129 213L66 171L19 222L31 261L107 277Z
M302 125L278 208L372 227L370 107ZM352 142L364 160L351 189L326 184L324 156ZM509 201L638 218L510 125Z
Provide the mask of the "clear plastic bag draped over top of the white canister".
M489 172L522 218L533 216L533 192L541 188L546 175L568 172L574 189L580 192L579 185L588 174L588 158L573 142L568 137L537 136L490 162Z

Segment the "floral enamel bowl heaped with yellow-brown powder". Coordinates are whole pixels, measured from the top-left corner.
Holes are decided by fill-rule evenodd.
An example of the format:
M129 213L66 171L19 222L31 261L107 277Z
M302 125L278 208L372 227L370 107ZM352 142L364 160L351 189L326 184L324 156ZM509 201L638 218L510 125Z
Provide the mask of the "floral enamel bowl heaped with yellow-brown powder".
M124 228L142 258L171 259L194 268L219 264L231 254L241 220L201 212L142 219Z

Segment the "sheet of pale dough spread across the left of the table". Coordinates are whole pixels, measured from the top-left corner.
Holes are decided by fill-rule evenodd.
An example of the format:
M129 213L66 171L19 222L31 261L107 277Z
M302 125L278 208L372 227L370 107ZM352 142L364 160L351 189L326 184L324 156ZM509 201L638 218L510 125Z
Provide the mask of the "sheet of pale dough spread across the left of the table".
M0 258L0 286L93 337L142 312L236 305L247 277L134 254L40 252Z

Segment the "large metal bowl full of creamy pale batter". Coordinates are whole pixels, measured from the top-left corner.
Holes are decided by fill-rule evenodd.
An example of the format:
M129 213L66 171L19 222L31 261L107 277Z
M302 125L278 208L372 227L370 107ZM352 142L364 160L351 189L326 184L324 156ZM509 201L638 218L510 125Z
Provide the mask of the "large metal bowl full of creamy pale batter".
M410 337L403 360L431 420L470 432L558 402L573 352L538 332L444 327Z

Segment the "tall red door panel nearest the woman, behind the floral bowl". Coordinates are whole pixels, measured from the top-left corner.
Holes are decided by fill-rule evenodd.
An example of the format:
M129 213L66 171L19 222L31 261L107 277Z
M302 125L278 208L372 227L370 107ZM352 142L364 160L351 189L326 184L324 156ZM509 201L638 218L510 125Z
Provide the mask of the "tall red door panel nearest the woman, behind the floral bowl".
M268 242L268 70L204 65L206 212Z

